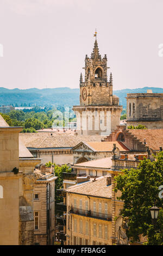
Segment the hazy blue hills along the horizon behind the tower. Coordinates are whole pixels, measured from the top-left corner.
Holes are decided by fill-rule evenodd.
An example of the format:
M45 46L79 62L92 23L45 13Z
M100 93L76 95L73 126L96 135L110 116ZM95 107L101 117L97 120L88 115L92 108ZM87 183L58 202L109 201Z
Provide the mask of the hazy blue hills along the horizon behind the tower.
M120 105L126 108L127 93L146 93L152 89L153 93L163 93L163 88L144 87L137 89L114 90L113 94L120 97ZM7 89L0 87L0 105L16 104L16 106L50 106L50 105L79 105L79 89L47 88L47 89Z

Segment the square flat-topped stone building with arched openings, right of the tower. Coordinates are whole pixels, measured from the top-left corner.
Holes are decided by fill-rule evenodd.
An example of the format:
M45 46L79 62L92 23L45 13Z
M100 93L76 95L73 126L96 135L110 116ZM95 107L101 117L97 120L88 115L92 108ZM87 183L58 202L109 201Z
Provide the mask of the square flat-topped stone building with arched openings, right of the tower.
M148 129L163 128L163 93L128 93L127 126L139 124Z

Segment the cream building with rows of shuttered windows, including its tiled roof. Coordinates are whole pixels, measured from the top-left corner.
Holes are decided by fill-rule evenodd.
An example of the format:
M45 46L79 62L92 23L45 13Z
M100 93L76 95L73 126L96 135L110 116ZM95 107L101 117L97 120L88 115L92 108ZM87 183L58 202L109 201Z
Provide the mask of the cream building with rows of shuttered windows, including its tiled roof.
M111 245L111 184L107 177L69 187L66 192L66 245Z

